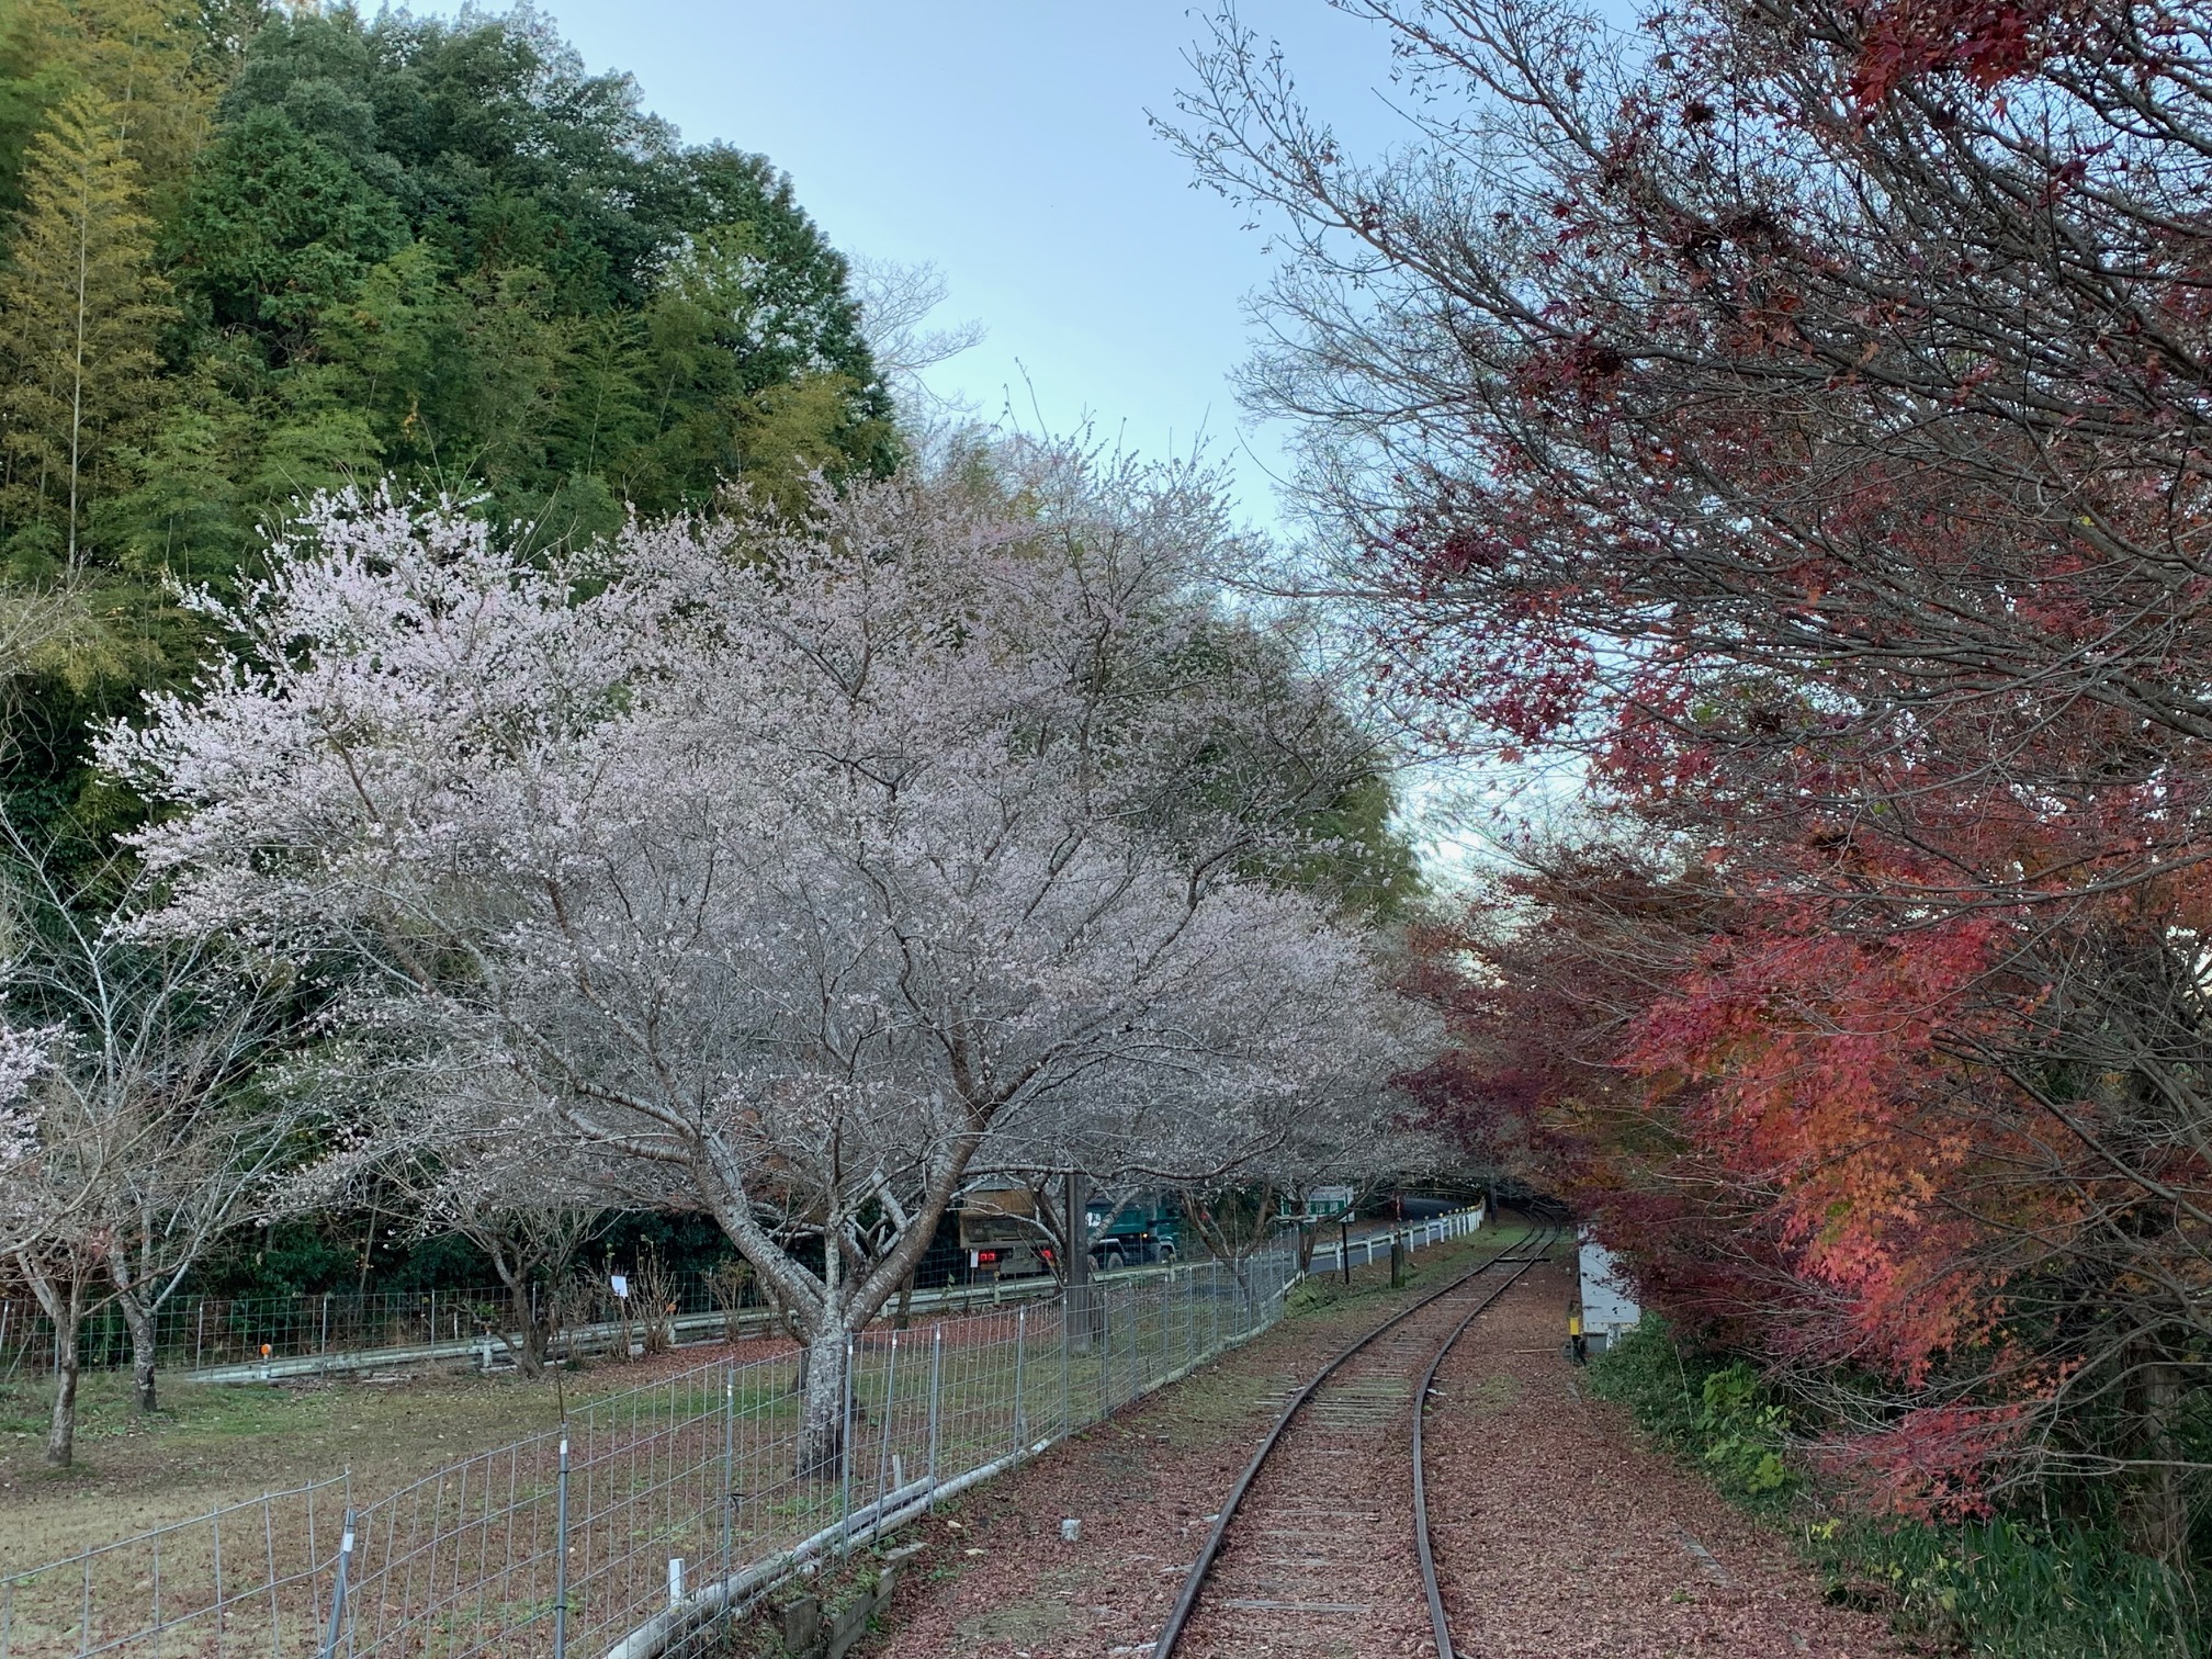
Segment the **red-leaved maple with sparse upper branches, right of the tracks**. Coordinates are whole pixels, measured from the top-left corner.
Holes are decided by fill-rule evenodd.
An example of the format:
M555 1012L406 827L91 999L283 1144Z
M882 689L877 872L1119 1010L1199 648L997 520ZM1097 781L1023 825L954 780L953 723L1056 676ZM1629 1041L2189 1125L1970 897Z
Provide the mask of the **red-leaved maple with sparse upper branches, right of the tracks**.
M1254 389L1383 677L1599 807L1451 942L1440 1108L1517 1126L1863 1469L2117 1478L2174 1557L2212 1478L2212 13L1356 9L1416 144L1345 155L1234 27L1181 135L1292 226Z

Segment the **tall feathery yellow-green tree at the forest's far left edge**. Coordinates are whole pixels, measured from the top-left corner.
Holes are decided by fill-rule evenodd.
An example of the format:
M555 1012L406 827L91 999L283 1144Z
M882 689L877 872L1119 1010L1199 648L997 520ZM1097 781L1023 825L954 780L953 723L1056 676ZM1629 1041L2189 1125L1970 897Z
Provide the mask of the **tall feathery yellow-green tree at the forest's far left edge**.
M128 484L131 440L159 405L155 334L168 285L117 108L84 88L33 142L24 212L0 274L0 533L20 575L75 573Z

